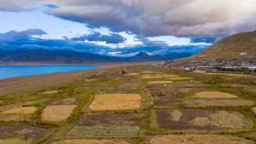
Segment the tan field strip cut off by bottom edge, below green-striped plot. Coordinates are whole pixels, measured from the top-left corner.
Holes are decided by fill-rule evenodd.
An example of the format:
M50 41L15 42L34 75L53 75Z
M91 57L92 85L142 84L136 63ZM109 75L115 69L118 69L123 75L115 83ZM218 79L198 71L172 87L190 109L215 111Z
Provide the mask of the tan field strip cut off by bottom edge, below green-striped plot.
M0 143L1 144L1 143ZM63 140L56 141L52 144L129 144L120 140L86 140L86 139L74 139L74 140Z

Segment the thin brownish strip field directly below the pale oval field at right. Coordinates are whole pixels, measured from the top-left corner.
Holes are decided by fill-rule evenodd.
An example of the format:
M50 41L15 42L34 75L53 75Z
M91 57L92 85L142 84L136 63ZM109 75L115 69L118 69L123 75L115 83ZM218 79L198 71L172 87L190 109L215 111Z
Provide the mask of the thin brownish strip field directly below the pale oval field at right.
M204 106L253 106L255 102L244 99L190 99L184 101L186 106L204 107Z

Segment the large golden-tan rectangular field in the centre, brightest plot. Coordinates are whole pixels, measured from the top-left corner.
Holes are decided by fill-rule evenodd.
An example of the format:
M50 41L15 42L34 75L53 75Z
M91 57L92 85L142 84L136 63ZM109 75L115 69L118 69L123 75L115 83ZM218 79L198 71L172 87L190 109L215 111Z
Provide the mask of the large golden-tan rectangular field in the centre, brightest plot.
M95 95L90 105L93 111L140 109L141 96L138 94L104 94Z

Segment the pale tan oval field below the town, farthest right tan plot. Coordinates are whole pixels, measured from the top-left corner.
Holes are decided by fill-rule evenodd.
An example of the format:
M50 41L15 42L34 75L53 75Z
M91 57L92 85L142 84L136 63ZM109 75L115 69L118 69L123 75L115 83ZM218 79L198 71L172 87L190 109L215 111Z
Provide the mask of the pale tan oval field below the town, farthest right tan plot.
M221 92L200 92L196 93L196 98L237 98L236 95L232 95L230 93L221 93Z

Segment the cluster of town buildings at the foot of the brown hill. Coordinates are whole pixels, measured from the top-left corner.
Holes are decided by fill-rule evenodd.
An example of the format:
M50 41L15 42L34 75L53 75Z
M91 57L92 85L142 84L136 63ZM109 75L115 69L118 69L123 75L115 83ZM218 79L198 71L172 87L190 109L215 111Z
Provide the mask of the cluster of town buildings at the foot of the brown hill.
M256 72L256 58L165 61L164 68L178 68L189 72L250 71Z

